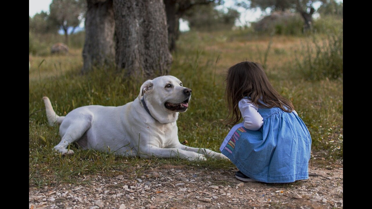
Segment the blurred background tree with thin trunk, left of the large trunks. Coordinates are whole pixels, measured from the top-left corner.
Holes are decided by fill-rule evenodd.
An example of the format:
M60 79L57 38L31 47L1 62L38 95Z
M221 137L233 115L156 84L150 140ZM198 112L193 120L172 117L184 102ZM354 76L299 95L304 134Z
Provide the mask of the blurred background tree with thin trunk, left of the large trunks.
M85 0L53 0L49 6L50 17L63 29L65 44L68 45L68 28L72 27L70 34L84 18L86 10Z

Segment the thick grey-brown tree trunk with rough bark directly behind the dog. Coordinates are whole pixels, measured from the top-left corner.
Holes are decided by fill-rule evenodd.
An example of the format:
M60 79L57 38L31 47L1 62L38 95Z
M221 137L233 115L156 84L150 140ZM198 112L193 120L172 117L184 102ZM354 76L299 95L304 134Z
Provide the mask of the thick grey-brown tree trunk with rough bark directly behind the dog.
M117 69L142 78L168 74L172 56L163 0L113 0L113 8Z

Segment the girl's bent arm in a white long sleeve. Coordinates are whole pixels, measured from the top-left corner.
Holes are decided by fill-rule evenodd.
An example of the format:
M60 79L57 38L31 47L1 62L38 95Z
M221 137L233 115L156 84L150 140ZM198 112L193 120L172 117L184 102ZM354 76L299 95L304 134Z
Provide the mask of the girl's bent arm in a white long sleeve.
M257 112L258 108L250 103L248 99L240 100L239 109L241 116L243 117L244 127L246 129L257 131L263 125L263 118L259 112Z

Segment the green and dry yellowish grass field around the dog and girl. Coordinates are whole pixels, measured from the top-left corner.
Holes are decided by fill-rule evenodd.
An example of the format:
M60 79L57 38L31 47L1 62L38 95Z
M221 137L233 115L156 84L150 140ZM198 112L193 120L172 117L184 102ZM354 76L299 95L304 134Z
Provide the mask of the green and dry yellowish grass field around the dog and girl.
M232 127L222 124L227 115L223 99L224 71L246 59L266 60L265 70L270 82L279 93L293 101L307 125L312 136L312 152L321 152L327 159L342 159L342 77L308 80L296 70L296 50L301 49L301 42L307 40L310 39L294 36L259 37L248 32L244 34L241 30L182 34L177 42L178 50L173 53L170 74L191 88L193 94L189 110L181 113L177 120L180 141L186 140L192 147L219 151ZM128 80L124 74L99 70L81 75L81 48L73 49L68 55L30 55L29 58L30 186L74 183L84 175L118 175L129 171L141 175L149 166L235 168L225 160L128 159L109 153L83 151L73 146L71 149L75 154L72 156L56 154L52 148L60 142L58 127L47 125L43 96L51 99L58 115L66 115L80 106L120 106L131 102L137 98L144 80ZM84 182L89 183L89 180Z

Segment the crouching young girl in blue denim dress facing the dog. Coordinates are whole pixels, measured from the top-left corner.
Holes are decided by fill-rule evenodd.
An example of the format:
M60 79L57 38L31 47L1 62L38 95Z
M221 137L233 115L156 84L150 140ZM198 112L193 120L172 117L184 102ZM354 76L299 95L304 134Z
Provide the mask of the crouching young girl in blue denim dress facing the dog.
M292 103L272 87L261 65L235 64L225 82L229 110L225 123L235 124L243 117L219 148L240 170L235 177L266 183L308 179L310 133Z

